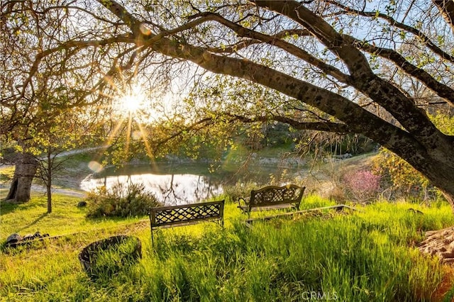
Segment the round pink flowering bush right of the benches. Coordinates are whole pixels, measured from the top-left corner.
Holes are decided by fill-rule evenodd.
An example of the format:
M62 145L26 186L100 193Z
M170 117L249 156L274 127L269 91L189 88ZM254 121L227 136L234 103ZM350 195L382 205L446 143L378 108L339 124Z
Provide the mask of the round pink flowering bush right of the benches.
M360 170L349 172L343 176L345 193L354 201L366 202L377 198L380 191L379 175L370 171Z

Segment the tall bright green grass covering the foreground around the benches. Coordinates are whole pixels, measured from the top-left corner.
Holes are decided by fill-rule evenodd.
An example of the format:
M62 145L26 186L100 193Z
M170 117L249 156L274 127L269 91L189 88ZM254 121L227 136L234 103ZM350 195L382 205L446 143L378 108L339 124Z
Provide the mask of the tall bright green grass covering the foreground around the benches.
M37 220L45 212L33 206L39 200L2 211L2 229L7 221L14 223L7 233L31 230L36 220L33 230L42 233L66 233L67 225L88 232L4 250L1 301L433 301L444 269L415 245L426 230L454 223L448 205L375 203L353 213L257 220L247 228L246 217L228 203L224 228L201 223L159 230L152 247L141 218L87 220L87 210L72 208L74 200L57 198L62 212ZM301 207L329 204L312 196ZM78 253L120 233L140 238L143 258L91 280ZM109 265L118 262L103 262L106 272Z

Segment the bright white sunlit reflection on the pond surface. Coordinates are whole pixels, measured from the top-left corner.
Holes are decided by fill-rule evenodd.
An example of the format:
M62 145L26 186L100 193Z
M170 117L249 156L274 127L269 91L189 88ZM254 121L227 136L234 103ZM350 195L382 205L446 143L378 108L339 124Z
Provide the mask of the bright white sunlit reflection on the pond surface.
M222 193L222 186L211 177L196 174L129 174L95 178L91 175L80 184L84 191L98 186L111 188L115 184L144 184L159 201L166 205L194 203Z

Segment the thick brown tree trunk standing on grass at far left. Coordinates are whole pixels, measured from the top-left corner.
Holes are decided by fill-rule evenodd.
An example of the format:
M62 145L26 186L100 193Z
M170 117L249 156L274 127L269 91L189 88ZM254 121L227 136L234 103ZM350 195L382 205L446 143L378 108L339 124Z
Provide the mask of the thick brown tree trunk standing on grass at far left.
M6 200L16 203L27 202L31 196L31 184L38 169L35 157L28 153L21 153L17 157L13 181L9 188Z

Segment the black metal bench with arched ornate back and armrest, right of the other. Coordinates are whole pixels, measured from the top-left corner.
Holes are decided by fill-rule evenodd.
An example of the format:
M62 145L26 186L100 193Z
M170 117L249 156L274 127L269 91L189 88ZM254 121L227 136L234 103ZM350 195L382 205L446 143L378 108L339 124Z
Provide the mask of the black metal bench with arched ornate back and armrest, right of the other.
M299 209L305 186L287 184L286 186L265 186L262 189L250 191L250 197L238 198L238 208L243 213L251 211L275 210L281 208Z

